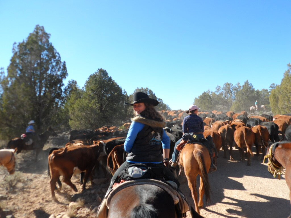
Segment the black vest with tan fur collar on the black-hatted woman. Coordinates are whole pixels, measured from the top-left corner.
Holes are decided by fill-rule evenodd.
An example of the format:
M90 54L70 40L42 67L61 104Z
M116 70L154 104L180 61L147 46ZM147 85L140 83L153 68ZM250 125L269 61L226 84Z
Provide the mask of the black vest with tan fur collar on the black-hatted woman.
M144 128L137 134L130 153L126 160L134 162L162 162L162 137L164 122L135 117L135 122L145 124Z

